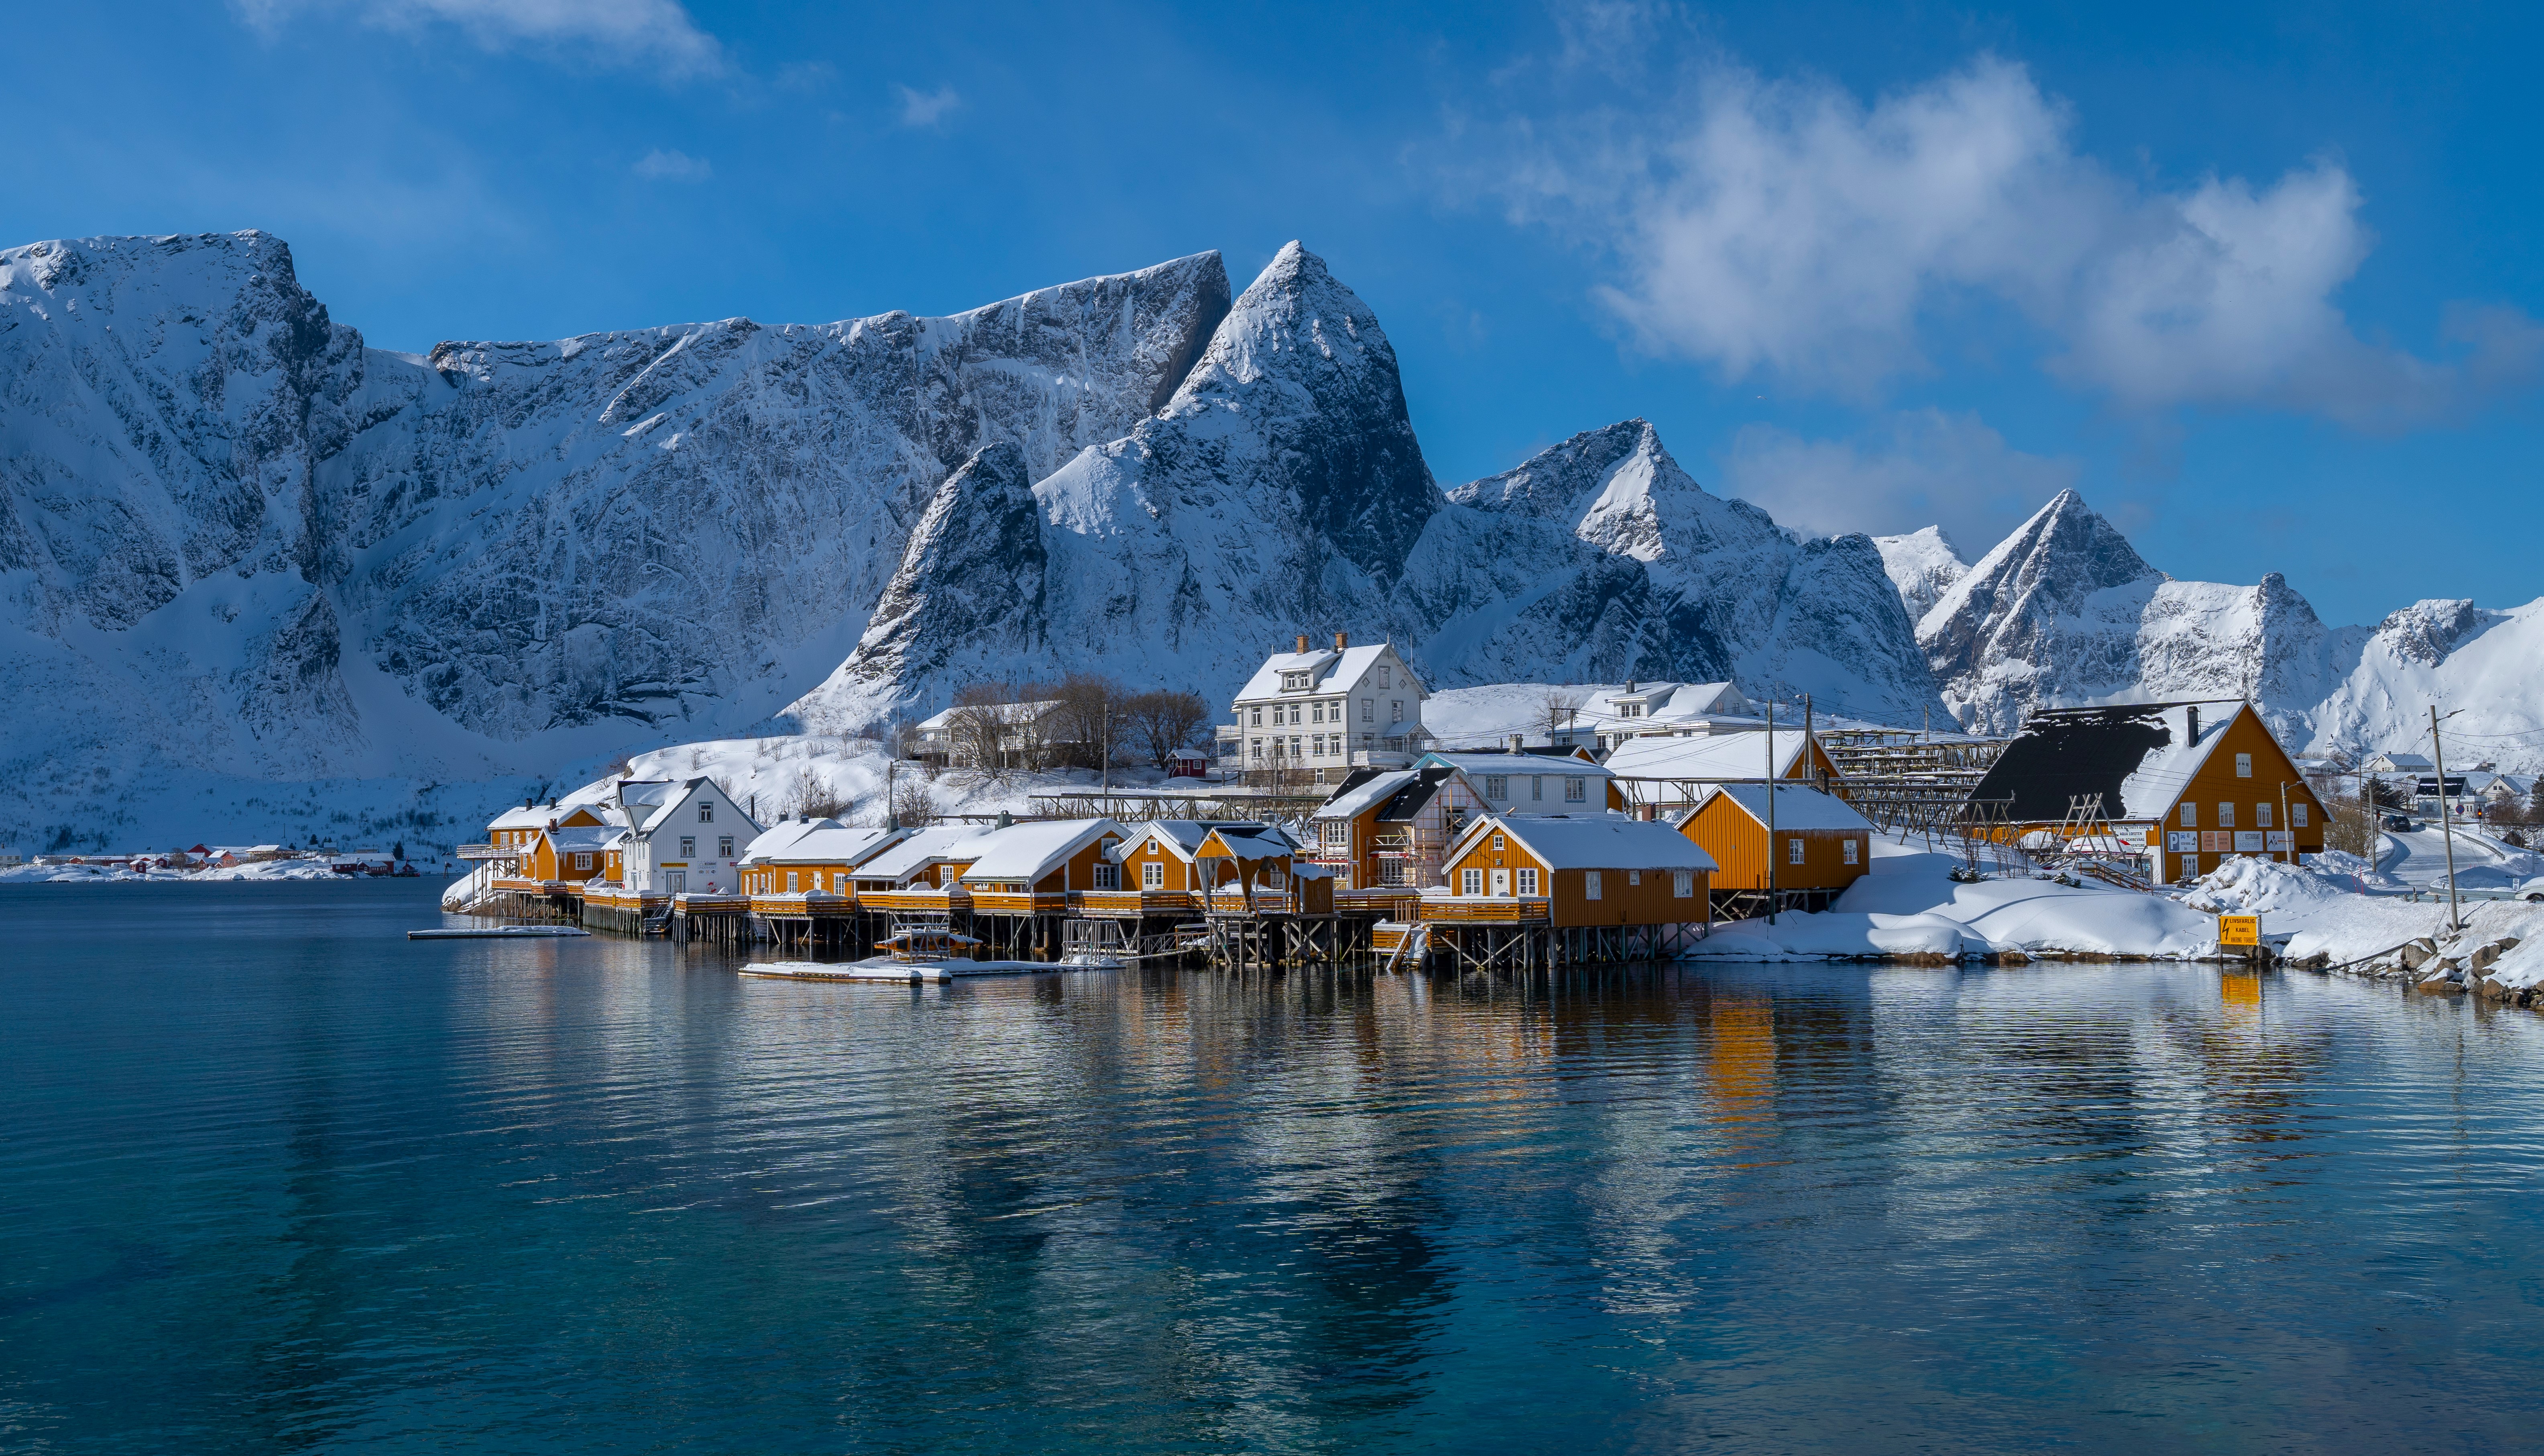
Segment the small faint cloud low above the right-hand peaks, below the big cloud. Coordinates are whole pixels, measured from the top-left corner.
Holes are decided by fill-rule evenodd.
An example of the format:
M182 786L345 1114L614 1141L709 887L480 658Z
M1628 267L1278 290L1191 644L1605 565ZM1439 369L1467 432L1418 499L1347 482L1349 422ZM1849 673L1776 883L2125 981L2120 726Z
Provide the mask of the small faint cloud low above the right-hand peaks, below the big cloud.
M1796 531L1895 536L1944 526L1987 549L2076 483L2073 460L2025 455L1977 414L1908 409L1855 440L1750 424L1722 457L1725 485Z

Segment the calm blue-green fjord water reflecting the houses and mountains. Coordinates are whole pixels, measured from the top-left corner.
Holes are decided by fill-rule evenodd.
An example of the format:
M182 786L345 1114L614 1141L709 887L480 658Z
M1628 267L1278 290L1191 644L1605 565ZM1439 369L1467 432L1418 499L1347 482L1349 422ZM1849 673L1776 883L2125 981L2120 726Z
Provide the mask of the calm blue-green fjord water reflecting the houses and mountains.
M0 1451L2485 1451L2544 1019L2208 968L743 981L13 887Z

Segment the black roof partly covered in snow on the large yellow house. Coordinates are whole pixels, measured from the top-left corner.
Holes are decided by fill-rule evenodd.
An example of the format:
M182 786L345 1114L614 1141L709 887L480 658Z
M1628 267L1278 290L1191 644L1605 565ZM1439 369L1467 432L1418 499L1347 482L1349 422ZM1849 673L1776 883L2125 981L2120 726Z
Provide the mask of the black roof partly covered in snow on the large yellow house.
M2106 818L2162 818L2244 711L2239 699L2040 709L1969 795L2015 800L2017 823L2061 821L2094 793Z

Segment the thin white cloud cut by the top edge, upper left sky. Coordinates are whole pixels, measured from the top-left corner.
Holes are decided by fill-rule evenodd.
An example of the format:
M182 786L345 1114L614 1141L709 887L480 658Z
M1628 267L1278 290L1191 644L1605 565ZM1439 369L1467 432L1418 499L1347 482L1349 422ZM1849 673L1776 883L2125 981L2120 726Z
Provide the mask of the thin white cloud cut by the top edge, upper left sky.
M712 76L725 48L679 0L232 0L257 30L275 33L305 10L354 10L389 30L458 25L488 51L529 46L664 76Z

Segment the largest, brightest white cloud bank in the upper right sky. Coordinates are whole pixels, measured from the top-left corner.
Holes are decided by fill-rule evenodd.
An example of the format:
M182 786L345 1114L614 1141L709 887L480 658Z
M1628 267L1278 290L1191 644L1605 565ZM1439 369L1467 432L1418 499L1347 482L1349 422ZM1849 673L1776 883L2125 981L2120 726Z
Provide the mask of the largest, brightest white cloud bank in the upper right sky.
M1870 107L1717 64L1651 104L1514 122L1488 185L1514 216L1613 249L1605 307L1646 348L1727 379L1872 396L1928 368L1933 320L1972 302L2017 310L2061 379L2127 409L2394 427L2544 356L2544 328L2513 310L2450 320L2452 358L2361 340L2333 295L2371 239L2333 160L2262 188L2147 191L2068 130L2066 107L1997 58Z

